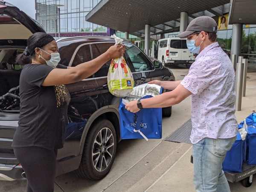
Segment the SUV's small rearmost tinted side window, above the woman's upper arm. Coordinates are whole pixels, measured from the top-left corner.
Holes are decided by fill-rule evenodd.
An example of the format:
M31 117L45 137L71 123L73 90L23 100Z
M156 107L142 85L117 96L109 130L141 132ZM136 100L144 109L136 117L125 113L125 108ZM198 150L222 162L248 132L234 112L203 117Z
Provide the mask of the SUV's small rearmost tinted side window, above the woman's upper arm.
M78 52L76 52L75 58L72 63L72 67L75 67L81 63L84 63L90 60L92 60L92 57L90 54L90 46L84 45L79 48Z

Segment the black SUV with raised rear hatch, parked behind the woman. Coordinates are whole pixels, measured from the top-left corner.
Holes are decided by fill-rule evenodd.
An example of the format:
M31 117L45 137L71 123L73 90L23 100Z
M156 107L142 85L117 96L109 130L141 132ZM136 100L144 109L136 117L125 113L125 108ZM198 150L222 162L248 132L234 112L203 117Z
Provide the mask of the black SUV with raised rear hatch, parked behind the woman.
M0 1L0 180L24 179L23 169L11 147L19 118L19 77L23 66L15 57L23 52L26 40L42 26L9 3ZM3 34L3 35L2 35ZM114 39L87 36L57 40L61 64L76 66L101 55ZM171 70L148 58L130 41L124 40L125 61L134 77L134 86L154 79L174 81ZM57 175L74 171L80 177L99 180L113 164L119 130L119 99L107 86L108 61L93 76L67 84L71 95L64 148L58 150ZM164 90L166 91L166 90ZM170 116L172 108L163 108ZM38 165L40 166L40 165Z

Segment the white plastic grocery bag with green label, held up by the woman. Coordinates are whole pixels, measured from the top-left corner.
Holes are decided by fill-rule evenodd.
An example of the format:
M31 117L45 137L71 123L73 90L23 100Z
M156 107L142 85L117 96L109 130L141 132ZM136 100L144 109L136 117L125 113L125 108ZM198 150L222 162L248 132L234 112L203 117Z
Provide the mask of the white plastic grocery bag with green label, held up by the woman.
M116 44L122 44L122 39L111 35L115 38ZM134 79L130 68L123 57L112 59L108 69L108 89L114 96L128 96L134 87Z

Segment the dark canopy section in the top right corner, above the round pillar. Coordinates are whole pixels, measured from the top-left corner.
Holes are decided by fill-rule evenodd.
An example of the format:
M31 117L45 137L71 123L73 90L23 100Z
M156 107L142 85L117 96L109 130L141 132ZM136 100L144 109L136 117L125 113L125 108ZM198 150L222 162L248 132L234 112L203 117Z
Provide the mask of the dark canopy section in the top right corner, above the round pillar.
M256 0L230 0L229 24L256 24Z

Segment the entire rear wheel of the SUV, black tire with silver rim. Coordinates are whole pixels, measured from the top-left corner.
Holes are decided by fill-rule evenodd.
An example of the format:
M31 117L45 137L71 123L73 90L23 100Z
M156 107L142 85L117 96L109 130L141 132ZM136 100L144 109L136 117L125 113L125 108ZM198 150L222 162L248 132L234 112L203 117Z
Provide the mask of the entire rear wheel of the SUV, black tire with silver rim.
M81 163L79 169L75 171L76 175L88 180L100 180L105 177L113 165L116 144L113 124L107 119L97 120L86 136Z

